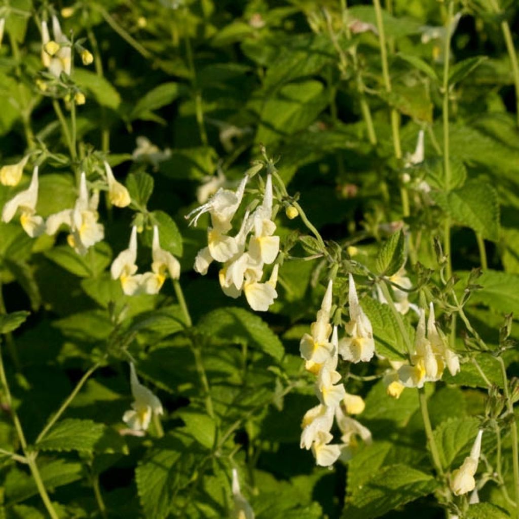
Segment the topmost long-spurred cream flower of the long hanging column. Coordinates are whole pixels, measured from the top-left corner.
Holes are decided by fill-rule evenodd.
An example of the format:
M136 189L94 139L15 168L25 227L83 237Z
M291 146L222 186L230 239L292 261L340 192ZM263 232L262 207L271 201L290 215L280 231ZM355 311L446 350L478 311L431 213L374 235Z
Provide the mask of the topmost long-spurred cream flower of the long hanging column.
M332 325L330 324L331 310L332 280L328 283L321 303L321 309L317 312L317 319L310 326L311 335L305 333L299 344L301 357L307 361L307 369L312 368L315 364L323 364L330 358L333 350L333 344L329 341L330 334L332 333Z

